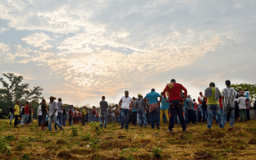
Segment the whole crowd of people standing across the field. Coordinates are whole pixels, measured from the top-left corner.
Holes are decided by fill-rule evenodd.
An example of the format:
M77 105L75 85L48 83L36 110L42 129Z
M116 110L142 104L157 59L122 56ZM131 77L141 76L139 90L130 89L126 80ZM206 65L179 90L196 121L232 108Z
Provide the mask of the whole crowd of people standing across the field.
M106 97L102 96L99 102L100 108L95 106L88 108L75 108L73 105L68 109L63 106L62 100L50 97L49 104L43 99L38 107L38 126L42 130L48 127L64 130L63 126L76 125L81 123L85 125L88 122L100 122L100 127L107 127L107 124L120 124L120 129L128 129L129 124L139 125L140 127L148 127L152 129L160 129L164 123L167 123L168 131L172 132L175 124L179 124L182 130L188 132L186 126L188 124L197 124L207 122L207 128L211 129L213 117L216 124L223 128L227 122L230 127L234 127L234 123L247 122L250 120L250 92L234 90L230 87L230 81L225 81L227 88L220 90L214 83L210 83L209 87L199 93L197 99L192 99L182 84L176 83L172 79L166 84L163 92L157 93L152 88L150 93L143 97L140 93L137 97L129 97L129 92L125 91L125 95L121 97L118 104L109 105ZM196 102L197 100L197 102ZM19 101L14 109L10 106L10 124L12 124L13 115L15 116L14 126L28 126L33 120L33 108L27 102L19 108ZM256 109L256 101L253 103Z

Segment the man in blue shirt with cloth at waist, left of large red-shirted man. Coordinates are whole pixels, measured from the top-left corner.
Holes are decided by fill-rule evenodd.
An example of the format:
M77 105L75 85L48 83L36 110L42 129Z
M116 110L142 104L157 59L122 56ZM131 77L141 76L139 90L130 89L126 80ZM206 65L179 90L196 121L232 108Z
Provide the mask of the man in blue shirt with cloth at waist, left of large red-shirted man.
M158 102L158 97L160 97L160 101ZM160 129L160 111L159 111L159 106L160 103L163 99L163 97L155 91L154 88L152 88L150 93L147 93L147 95L144 98L145 104L147 104L146 100L148 99L148 104L149 107L149 115L150 115L150 123L152 129L155 128L155 123L156 123L156 128Z

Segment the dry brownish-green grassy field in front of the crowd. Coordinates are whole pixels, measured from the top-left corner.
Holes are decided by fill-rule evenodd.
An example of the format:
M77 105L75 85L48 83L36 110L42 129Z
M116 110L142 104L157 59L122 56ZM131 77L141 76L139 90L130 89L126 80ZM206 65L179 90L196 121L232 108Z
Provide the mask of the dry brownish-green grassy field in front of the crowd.
M189 133L175 125L170 135L166 124L120 130L118 124L99 129L91 123L51 132L36 124L15 129L0 120L0 159L256 159L255 120L236 122L232 129L214 124L212 131L206 124L188 125Z

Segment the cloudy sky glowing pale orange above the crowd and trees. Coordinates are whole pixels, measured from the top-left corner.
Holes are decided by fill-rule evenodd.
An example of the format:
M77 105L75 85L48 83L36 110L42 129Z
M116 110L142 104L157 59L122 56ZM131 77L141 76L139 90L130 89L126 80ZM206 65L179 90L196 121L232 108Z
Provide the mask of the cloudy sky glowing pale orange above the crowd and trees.
M74 106L255 84L256 1L0 0L0 73ZM3 77L3 76L1 76Z

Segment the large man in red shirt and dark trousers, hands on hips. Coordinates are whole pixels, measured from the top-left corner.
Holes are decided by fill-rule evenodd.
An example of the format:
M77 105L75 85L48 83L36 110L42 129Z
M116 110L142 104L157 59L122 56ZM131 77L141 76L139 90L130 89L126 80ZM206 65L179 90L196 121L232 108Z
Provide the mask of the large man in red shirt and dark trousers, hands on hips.
M184 90L185 92L184 99L182 99L182 97L180 96L180 90ZM169 99L166 99L166 92ZM183 107L182 107L182 100L186 100L187 94L188 94L187 89L184 86L182 86L182 84L176 83L175 79L172 79L171 83L168 83L164 88L163 95L166 102L169 102L169 112L170 112L169 130L167 132L172 132L172 129L174 127L175 111L179 116L182 130L188 132L186 129L186 122L184 120Z

